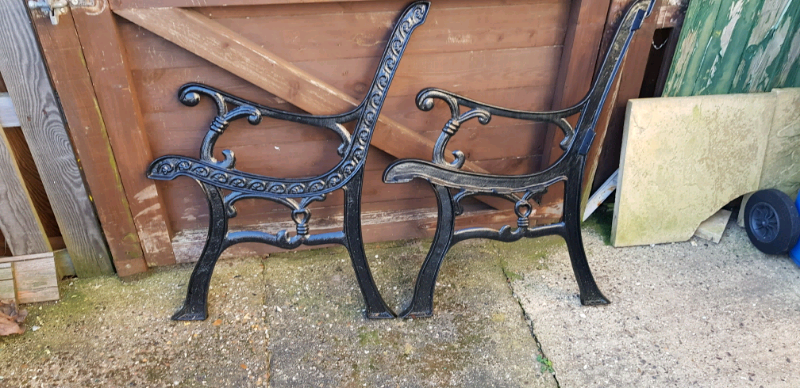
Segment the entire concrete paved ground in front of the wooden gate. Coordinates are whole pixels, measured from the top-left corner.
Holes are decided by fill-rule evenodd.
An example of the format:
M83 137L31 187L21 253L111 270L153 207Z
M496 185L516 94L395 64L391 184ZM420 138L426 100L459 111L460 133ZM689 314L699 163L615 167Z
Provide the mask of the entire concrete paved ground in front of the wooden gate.
M346 251L222 261L204 322L172 322L190 266L72 279L0 338L0 387L796 387L800 268L729 226L615 249L584 230L612 304L583 307L560 239L459 244L435 316L368 321ZM396 310L429 241L374 244Z

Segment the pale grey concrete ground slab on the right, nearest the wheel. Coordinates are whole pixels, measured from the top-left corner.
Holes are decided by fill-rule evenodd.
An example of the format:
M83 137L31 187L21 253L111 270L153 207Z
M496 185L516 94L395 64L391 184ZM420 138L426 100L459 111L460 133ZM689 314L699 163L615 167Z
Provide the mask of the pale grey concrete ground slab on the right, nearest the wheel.
M561 387L800 386L800 268L786 256L758 252L735 222L719 245L584 236L610 305L580 305L561 247L544 269L507 257Z

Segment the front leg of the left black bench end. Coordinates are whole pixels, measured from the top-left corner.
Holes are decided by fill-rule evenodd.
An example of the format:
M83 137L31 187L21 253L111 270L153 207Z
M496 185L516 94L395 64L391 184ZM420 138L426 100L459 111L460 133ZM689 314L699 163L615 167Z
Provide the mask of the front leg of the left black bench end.
M173 321L204 321L208 318L208 287L214 266L225 250L225 235L228 233L228 215L222 191L207 183L197 182L208 200L208 239L189 278L186 299L172 316Z

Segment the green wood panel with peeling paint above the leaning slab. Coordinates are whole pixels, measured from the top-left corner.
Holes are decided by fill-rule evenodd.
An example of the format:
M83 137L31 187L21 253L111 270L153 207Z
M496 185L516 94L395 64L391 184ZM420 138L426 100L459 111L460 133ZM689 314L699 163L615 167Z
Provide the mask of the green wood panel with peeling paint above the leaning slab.
M800 86L800 1L693 2L673 63L665 96Z

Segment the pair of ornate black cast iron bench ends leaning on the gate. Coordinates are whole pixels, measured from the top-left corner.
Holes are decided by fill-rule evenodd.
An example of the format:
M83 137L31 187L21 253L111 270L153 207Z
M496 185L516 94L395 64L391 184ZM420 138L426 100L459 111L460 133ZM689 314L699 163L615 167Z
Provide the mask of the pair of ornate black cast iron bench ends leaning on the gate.
M583 250L578 214L581 179L586 153L594 138L594 126L611 81L630 44L633 31L649 15L653 2L654 0L638 0L628 10L591 90L573 107L553 112L525 112L483 104L440 89L425 89L419 93L417 105L420 109L431 110L434 99L439 99L447 103L452 118L445 124L436 142L432 162L399 160L391 164L384 173L386 183L402 183L416 178L427 180L439 203L433 244L417 276L412 302L400 316L424 317L432 314L436 277L444 256L453 244L471 238L513 242L522 238L560 235L567 242L581 302L586 305L608 303L595 283ZM366 316L395 317L375 285L364 252L360 224L361 188L369 143L389 86L412 32L425 22L429 9L430 3L427 1L413 3L405 9L391 33L367 96L350 112L330 116L297 114L262 106L201 84L187 84L181 88L179 96L185 105L195 106L201 96L206 96L215 103L217 115L200 146L199 159L167 155L153 161L147 172L149 178L158 180L172 180L178 176L193 178L200 184L208 201L208 238L189 280L184 304L172 319L206 319L208 289L217 260L225 249L245 242L265 243L284 249L294 249L301 245L343 245L350 254L364 297ZM469 110L461 113L462 107ZM580 118L573 129L566 118L575 114L580 114ZM546 170L520 176L461 171L465 156L458 151L454 152L455 162L446 162L445 148L459 127L471 119L487 124L492 116L540 121L558 126L565 136L561 143L564 154ZM214 146L232 121L246 118L250 124L257 125L262 117L327 128L335 132L342 140L339 147L342 160L327 173L316 177L283 179L237 170L235 156L230 150L222 151L224 160L214 157ZM352 135L343 126L350 122L356 122ZM552 225L531 227L528 217L533 211L533 205L530 201L537 200L548 187L558 182L564 182L562 220ZM308 206L316 201L324 201L328 193L339 189L345 193L343 229L338 232L311 234L311 211ZM456 193L453 194L451 190ZM521 193L521 196L516 193ZM473 195L495 195L513 202L518 216L517 228L512 230L506 226L500 230L471 228L456 231L455 217L462 210L460 201ZM228 221L237 215L235 203L248 198L266 199L289 208L296 227L295 233L290 236L285 230L276 234L229 231Z

